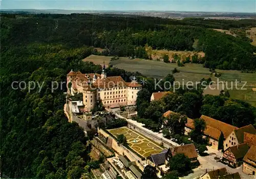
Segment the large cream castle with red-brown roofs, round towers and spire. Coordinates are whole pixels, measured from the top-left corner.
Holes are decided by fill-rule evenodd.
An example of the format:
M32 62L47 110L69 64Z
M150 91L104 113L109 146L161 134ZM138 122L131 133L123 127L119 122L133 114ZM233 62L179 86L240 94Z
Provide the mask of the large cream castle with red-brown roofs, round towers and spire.
M135 105L137 93L142 89L142 85L136 82L136 77L132 82L125 82L121 76L107 77L105 64L102 65L101 75L71 70L67 74L67 84L68 95L82 94L82 101L76 101L72 113L90 112L99 100L108 108Z

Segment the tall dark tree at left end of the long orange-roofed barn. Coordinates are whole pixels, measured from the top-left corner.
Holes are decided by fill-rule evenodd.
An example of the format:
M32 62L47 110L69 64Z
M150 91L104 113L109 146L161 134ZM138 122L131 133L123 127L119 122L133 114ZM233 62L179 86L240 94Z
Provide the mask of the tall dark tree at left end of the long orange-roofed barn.
M195 128L189 133L191 140L198 144L204 144L205 140L203 139L203 135L206 128L204 119L194 119L194 127Z

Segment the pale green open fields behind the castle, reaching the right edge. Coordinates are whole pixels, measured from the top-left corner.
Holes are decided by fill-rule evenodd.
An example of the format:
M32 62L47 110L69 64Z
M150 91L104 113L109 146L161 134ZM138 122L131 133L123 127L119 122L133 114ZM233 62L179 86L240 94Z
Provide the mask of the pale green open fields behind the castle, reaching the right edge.
M119 69L124 69L125 71L130 72L140 72L141 74L147 77L153 78L163 78L174 68L180 70L180 73L174 74L175 80L180 81L181 83L184 81L186 84L187 81L200 81L202 78L211 78L213 81L217 81L216 77L210 76L209 69L203 68L202 64L193 64L186 63L185 66L179 67L176 63L164 63L162 61L156 60L144 60L144 59L129 59L126 57L120 57L118 60L110 61L111 57L104 56L96 56L91 55L87 59L95 62L96 64L102 64L103 60L106 62L110 62ZM241 73L236 70L216 70L219 73L222 73L219 81L228 82L228 87L231 85L231 81L233 82L233 89L229 89L229 94L231 98L245 100L256 106L256 94L252 91L252 87L256 87L256 73ZM236 81L246 81L247 84L245 88L246 90L238 90L234 87L234 82ZM238 84L239 86L242 83ZM218 95L221 91L219 89L209 89L207 88L205 94L213 94Z

